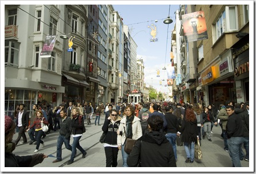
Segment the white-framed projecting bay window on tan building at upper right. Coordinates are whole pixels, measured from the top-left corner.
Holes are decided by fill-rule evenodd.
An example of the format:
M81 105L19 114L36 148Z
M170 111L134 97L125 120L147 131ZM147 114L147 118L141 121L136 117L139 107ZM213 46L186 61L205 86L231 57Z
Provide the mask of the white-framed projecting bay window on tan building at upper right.
M225 10L212 25L212 35L213 41L216 40L225 32L225 31L236 31L238 30L238 12L237 6L226 6Z

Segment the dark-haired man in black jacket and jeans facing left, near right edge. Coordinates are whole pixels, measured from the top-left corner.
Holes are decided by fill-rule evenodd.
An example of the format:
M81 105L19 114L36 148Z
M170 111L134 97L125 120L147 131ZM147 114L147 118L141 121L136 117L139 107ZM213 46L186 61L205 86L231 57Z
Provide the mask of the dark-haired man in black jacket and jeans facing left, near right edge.
M232 160L232 167L242 167L239 159L239 148L243 144L243 122L241 117L235 114L234 106L227 106L227 114L227 145Z

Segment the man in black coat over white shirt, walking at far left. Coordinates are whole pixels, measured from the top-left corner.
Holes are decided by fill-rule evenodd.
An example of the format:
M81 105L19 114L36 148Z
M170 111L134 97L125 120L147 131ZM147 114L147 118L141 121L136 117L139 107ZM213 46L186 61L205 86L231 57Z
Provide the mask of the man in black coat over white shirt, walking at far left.
M25 109L25 105L20 105L20 112L18 112L16 125L19 128L18 137L15 140L15 144L18 145L19 141L21 140L21 137L23 139L23 142L21 144L24 144L27 142L25 131L29 126L29 112L27 112Z

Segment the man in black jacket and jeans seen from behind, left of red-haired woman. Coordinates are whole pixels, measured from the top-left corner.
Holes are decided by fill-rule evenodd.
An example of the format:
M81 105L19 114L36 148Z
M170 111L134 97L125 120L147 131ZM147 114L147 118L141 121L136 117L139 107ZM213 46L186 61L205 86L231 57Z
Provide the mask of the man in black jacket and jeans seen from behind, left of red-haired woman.
M172 144L172 148L175 155L175 160L177 161L177 149L176 149L176 138L177 132L179 131L179 122L176 116L172 114L173 108L172 106L166 106L165 108L165 119L167 122L166 129L166 139L169 140L170 144Z

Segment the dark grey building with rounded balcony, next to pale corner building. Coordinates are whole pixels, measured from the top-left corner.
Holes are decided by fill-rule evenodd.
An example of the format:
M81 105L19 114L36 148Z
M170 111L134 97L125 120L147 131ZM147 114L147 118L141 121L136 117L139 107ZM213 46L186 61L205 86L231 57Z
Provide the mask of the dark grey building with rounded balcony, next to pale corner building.
M63 74L61 84L65 88L63 102L72 101L84 103L87 89L87 5L63 5L64 6L64 33L67 39L63 41L63 58L61 62L61 73ZM72 42L72 51L70 50Z

